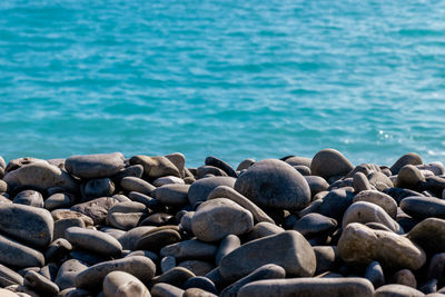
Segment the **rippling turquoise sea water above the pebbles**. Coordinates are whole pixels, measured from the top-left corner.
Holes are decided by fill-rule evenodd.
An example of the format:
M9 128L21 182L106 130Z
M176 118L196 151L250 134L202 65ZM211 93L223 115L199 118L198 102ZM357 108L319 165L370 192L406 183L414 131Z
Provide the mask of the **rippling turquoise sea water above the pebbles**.
M444 1L0 1L0 155L443 160L444 16Z

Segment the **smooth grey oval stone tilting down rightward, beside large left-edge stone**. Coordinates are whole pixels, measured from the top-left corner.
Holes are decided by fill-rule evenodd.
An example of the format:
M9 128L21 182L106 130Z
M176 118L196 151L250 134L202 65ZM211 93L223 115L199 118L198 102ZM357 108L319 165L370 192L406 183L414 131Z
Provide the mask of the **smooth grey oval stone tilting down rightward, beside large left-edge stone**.
M122 246L112 236L98 230L71 227L65 231L65 238L75 247L102 256L117 257Z

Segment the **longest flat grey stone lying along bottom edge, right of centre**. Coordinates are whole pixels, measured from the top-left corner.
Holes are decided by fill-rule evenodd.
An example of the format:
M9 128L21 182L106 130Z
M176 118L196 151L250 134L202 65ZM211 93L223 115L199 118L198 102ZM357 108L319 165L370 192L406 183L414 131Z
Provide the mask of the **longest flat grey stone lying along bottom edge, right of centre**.
M238 291L238 297L255 296L355 296L372 297L373 284L365 278L287 278L257 280L245 285Z

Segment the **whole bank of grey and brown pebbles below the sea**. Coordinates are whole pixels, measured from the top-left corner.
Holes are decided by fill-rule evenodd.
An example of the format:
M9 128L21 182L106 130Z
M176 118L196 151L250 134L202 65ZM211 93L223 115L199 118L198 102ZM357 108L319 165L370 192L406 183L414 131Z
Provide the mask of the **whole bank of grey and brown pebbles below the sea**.
M0 157L0 296L445 296L444 189L416 154Z

